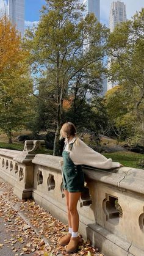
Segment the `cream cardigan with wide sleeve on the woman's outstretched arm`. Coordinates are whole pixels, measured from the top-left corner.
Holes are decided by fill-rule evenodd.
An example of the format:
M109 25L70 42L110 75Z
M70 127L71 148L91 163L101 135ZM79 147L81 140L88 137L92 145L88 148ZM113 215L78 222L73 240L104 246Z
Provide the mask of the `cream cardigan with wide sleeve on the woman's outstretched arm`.
M69 144L73 144L72 150L69 149ZM70 158L74 164L84 164L92 166L98 169L112 169L119 168L120 163L113 162L111 158L107 159L105 156L96 152L92 148L88 147L81 139L74 137L70 142L65 140L65 150L70 152ZM60 161L62 167L63 161Z

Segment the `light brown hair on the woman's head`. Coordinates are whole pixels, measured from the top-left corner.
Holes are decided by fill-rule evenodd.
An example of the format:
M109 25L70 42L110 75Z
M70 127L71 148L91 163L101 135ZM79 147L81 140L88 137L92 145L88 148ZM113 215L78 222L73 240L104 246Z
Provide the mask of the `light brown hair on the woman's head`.
M70 136L75 136L77 144L76 126L73 123L67 122L63 124L60 130L60 140L63 138L63 133L65 134L67 139L70 139Z

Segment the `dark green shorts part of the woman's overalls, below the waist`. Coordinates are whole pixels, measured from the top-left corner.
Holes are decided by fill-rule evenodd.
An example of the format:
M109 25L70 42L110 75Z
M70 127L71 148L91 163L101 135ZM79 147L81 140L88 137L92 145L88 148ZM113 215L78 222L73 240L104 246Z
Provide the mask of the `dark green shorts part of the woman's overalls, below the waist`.
M63 170L63 189L68 192L84 191L84 172L82 166L65 167Z

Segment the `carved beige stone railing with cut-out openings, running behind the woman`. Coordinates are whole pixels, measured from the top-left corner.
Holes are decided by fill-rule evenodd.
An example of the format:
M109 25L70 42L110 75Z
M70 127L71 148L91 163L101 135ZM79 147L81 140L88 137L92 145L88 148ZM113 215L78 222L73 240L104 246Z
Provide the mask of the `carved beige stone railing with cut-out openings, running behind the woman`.
M32 197L67 223L58 156L37 154L44 142L23 152L0 150L0 176L20 199ZM83 167L85 190L77 205L79 232L107 256L144 255L144 170Z

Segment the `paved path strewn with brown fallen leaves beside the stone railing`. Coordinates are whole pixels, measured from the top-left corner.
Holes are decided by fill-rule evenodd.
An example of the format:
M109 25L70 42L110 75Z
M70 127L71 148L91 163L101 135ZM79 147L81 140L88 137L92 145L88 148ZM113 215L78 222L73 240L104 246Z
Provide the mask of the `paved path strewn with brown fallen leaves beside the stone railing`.
M67 225L54 218L34 200L20 200L9 183L0 178L0 255L1 256L103 256L84 241L76 254L67 254L57 240L67 233Z

